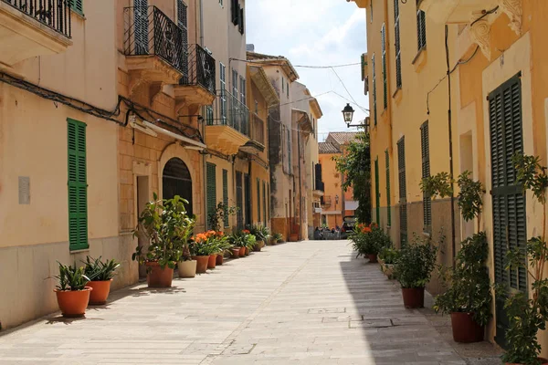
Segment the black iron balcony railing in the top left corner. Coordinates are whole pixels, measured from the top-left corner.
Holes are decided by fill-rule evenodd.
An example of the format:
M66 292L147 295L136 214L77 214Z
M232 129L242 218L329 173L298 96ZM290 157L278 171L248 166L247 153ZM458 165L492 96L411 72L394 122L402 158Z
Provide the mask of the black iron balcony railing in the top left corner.
M71 36L70 0L2 0L51 29Z

